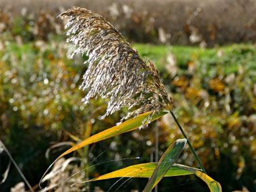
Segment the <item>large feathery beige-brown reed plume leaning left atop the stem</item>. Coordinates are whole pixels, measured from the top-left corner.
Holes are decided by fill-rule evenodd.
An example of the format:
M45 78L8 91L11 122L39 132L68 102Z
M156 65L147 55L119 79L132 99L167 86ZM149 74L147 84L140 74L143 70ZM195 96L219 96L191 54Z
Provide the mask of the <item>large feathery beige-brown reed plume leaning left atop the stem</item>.
M81 53L89 57L84 82L79 87L88 90L82 99L84 104L98 96L109 98L102 119L125 106L129 110L140 106L121 121L152 110L154 113L163 108L171 110L172 98L168 98L155 65L141 59L137 50L101 15L73 7L59 16L69 18L65 28L69 28L67 35L71 36L67 42L77 47L73 55Z

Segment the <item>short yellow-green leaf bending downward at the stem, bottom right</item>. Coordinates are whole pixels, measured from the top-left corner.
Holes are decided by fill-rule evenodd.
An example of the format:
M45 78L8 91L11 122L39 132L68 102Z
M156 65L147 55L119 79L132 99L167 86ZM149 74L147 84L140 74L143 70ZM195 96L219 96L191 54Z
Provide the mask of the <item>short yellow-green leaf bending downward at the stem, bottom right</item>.
M193 172L197 177L202 179L210 188L211 192L221 192L222 191L222 186L220 183L209 177L207 174L201 172L200 170L195 170L194 168L191 168L189 166L183 166L181 164L177 164L179 168L183 168L184 170L188 170L190 172Z

